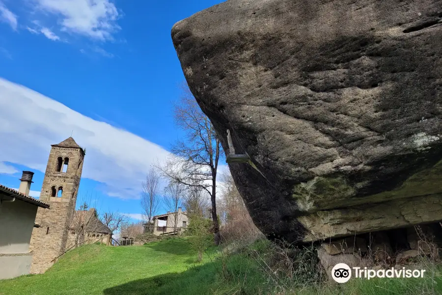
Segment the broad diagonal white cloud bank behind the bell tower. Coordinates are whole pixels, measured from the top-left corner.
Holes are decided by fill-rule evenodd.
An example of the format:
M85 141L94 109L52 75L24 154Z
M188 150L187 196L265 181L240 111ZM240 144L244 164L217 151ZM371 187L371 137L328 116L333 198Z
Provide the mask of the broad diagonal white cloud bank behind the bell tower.
M139 197L150 165L169 152L126 130L86 117L24 86L0 78L0 162L45 172L51 144L71 135L86 148L83 177L122 199Z

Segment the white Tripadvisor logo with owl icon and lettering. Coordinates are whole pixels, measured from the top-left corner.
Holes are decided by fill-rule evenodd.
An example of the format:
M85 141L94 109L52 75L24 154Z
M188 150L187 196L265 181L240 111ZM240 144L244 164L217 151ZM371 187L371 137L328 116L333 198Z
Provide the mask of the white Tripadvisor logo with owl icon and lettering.
M355 278L423 278L425 269L397 269L391 267L389 269L368 269L367 267L352 267ZM338 283L346 283L352 277L352 269L345 263L338 263L331 269L331 277Z

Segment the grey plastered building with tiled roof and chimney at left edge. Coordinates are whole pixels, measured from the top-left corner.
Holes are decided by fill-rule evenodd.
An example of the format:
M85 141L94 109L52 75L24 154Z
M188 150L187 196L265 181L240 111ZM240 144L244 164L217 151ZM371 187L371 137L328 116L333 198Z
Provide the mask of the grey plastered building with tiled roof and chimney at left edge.
M49 204L29 196L33 172L24 171L18 191L0 184L0 279L28 274L32 261L29 242L37 208Z

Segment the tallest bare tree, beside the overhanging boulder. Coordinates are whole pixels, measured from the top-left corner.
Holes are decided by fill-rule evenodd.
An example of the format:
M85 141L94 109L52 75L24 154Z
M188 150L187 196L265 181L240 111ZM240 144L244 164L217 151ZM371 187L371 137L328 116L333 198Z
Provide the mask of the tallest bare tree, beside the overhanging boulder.
M211 215L215 244L221 242L218 224L216 191L217 170L220 160L220 141L209 118L201 111L192 92L183 87L183 96L174 104L174 119L177 126L186 132L185 141L173 148L173 155L159 166L163 176L188 187L199 187L211 200Z

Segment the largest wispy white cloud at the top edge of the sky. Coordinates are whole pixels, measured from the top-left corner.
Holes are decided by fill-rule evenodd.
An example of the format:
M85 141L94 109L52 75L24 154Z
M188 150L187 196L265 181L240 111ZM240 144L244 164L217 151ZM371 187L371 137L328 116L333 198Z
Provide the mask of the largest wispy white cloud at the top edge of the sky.
M58 17L61 30L97 40L113 40L121 16L110 0L37 0L38 8Z

